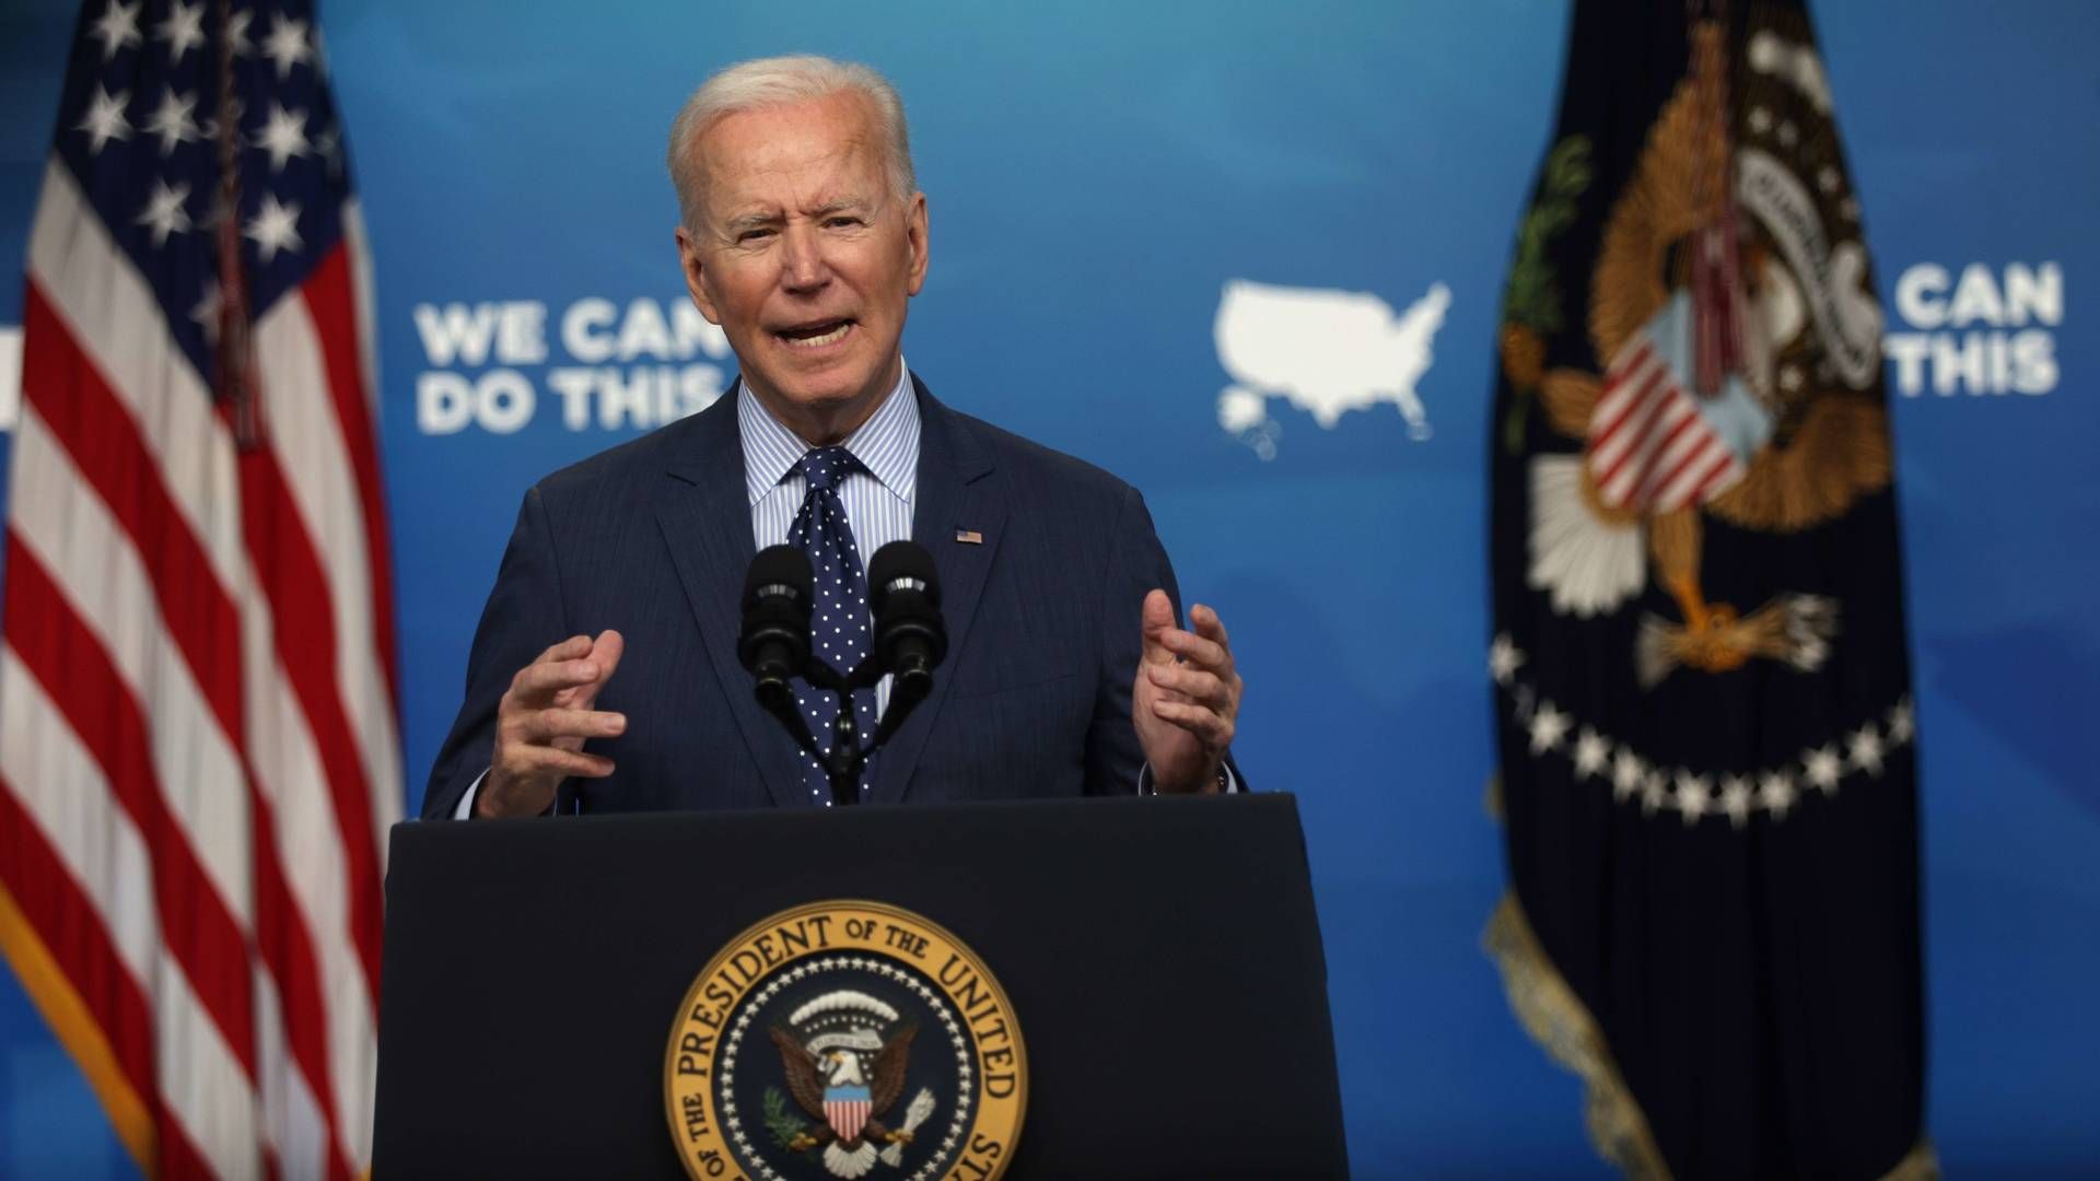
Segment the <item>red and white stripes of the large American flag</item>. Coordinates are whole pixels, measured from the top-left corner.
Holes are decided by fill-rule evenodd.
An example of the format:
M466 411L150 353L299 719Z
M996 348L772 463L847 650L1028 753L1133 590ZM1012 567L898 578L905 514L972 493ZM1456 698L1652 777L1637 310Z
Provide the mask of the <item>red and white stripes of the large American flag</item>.
M244 452L57 160L32 229L0 902L149 1175L370 1164L401 748L355 210L344 233L254 326Z

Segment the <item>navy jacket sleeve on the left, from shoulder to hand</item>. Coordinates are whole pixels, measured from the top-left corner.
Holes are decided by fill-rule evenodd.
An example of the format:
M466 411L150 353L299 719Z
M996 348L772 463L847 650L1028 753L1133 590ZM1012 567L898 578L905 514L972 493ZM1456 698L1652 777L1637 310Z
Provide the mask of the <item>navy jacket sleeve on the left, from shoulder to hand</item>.
M525 492L519 523L504 546L496 588L481 609L475 647L466 656L466 700L430 767L422 817L449 817L460 796L483 771L496 748L496 706L510 679L569 635L563 618L561 565L538 488Z

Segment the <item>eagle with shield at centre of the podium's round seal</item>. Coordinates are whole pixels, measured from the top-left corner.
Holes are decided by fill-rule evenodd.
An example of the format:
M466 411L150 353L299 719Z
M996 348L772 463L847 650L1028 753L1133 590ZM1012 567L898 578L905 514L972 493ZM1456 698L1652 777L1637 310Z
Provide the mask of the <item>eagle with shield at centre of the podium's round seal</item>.
M788 1152L823 1149L823 1166L834 1177L865 1177L876 1162L901 1164L901 1147L911 1143L911 1128L932 1114L932 1093L920 1091L905 1116L905 1126L890 1128L884 1118L905 1091L905 1070L911 1061L911 1038L918 1025L897 1025L888 1036L882 1023L897 1021L897 1011L857 990L827 992L796 1009L788 1021L771 1028L781 1051L788 1093L815 1124L783 1137ZM890 1145L878 1152L878 1143Z

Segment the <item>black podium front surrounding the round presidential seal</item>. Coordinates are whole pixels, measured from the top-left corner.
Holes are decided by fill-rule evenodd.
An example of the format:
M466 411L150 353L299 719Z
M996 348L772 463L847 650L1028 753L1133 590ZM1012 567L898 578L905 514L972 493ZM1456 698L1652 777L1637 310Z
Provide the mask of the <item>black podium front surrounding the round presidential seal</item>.
M1004 986L1008 1177L1348 1175L1287 794L399 824L374 1175L685 1177L687 988L832 897L930 918Z

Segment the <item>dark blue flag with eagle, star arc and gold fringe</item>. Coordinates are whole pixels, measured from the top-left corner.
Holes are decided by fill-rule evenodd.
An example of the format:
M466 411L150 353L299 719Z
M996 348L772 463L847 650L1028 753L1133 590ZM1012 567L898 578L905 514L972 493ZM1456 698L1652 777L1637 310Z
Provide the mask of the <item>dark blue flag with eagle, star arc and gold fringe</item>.
M1636 1177L1924 1177L1882 311L1798 2L1577 2L1491 431L1525 1025Z

